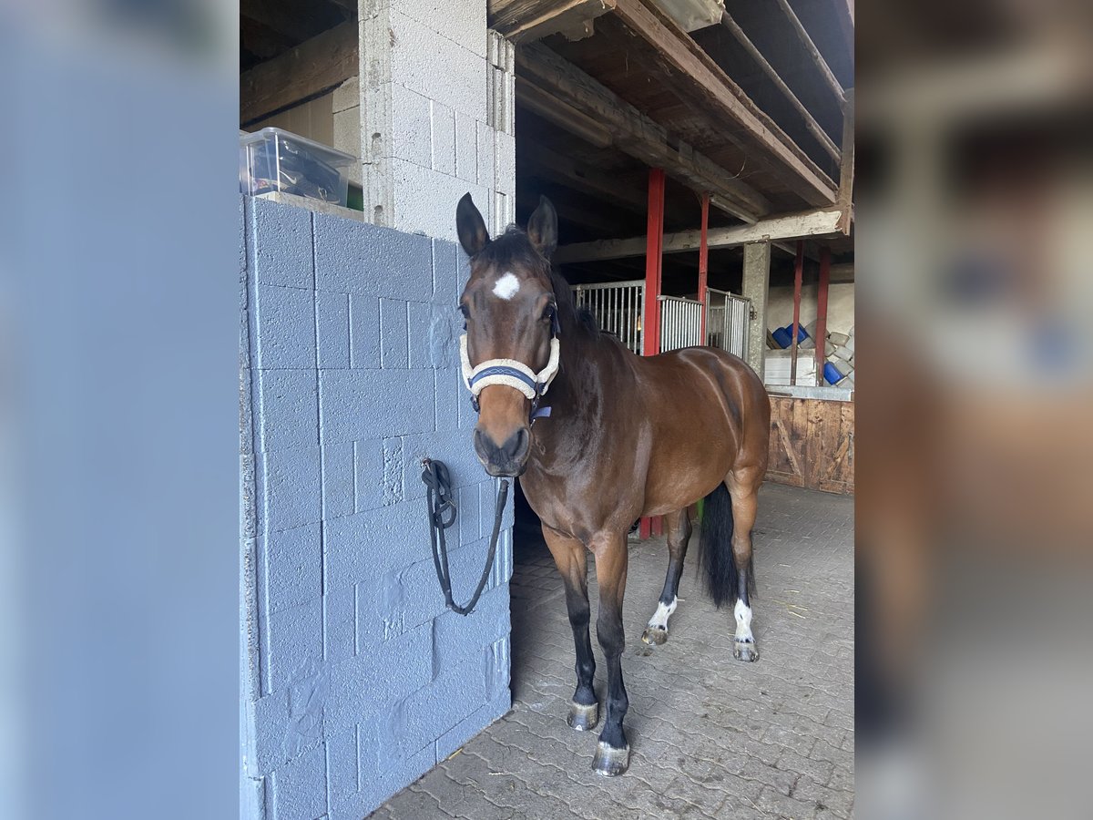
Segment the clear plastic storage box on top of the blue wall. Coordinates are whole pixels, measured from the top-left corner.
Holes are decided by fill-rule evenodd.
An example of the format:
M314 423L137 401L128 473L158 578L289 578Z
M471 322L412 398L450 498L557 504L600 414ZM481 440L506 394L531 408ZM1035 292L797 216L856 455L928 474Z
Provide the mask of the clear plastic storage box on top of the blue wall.
M239 136L239 190L280 191L345 206L354 157L280 128Z

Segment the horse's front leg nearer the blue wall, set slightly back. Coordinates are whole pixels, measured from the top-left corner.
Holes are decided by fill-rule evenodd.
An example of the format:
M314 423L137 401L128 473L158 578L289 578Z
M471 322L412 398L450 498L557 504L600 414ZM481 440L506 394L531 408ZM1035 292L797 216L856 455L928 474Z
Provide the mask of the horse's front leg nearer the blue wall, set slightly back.
M569 703L567 723L575 729L595 729L600 719L600 707L596 700L592 680L596 677L596 659L592 656L592 640L588 634L590 608L588 606L588 558L585 544L543 525L543 539L554 557L557 571L565 585L565 606L573 628L573 644L577 654L577 689Z

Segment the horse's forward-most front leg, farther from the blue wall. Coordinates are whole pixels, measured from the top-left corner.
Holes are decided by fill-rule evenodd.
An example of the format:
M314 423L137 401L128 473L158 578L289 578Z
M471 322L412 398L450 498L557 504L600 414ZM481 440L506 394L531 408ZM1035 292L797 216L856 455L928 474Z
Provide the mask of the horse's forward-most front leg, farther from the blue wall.
M593 540L596 578L600 586L600 611L596 636L608 665L607 718L596 746L592 770L598 774L622 774L630 765L630 745L623 731L630 701L622 681L622 651L626 639L622 628L622 598L626 590L626 534Z

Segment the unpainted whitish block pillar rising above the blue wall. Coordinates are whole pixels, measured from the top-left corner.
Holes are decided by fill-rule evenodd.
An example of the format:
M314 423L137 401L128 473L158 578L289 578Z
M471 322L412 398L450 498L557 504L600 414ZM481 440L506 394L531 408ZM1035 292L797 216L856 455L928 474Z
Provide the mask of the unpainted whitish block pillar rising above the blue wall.
M470 191L492 231L516 194L513 45L484 0L362 0L361 154L368 219L455 239Z

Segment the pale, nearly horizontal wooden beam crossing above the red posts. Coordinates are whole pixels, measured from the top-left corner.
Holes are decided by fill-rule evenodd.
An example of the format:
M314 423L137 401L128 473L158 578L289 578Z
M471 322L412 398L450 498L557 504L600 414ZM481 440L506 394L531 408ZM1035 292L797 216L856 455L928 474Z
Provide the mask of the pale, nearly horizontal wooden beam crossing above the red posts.
M730 248L747 245L752 242L771 242L797 239L806 236L835 236L839 233L839 221L843 212L835 208L790 213L774 216L754 225L736 225L732 227L714 227L709 230L708 247ZM678 254L684 250L697 250L702 244L701 231L680 231L666 234L662 253ZM625 259L642 256L645 253L646 238L634 236L628 239L601 239L584 242L574 245L562 245L554 251L559 263L585 262L598 259Z

